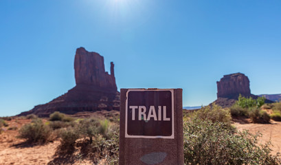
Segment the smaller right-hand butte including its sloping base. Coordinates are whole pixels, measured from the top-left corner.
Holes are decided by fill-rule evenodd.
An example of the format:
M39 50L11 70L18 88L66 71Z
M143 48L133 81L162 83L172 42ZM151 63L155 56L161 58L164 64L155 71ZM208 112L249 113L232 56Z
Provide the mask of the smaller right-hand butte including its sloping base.
M218 87L217 99L214 101L221 107L230 107L238 100L239 95L246 98L258 98L251 94L249 78L245 74L236 73L223 76L216 82ZM265 102L272 102L265 100Z

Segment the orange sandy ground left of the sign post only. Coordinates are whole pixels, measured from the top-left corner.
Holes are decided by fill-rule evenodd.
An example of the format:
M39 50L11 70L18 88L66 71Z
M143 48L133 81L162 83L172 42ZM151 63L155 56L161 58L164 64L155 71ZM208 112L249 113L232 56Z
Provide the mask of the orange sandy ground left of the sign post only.
M55 155L56 148L60 144L58 140L49 142L45 145L25 144L25 140L16 138L18 130L23 124L29 123L31 120L11 120L8 121L9 126L4 127L4 131L0 134L0 164L93 164L89 160L82 160L78 157L71 163L56 162L58 159ZM17 130L8 130L9 127L16 126ZM68 161L68 159L67 159ZM54 163L55 162L55 163ZM102 163L104 164L104 163Z

